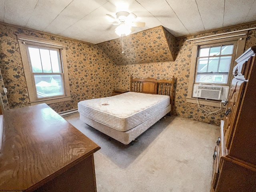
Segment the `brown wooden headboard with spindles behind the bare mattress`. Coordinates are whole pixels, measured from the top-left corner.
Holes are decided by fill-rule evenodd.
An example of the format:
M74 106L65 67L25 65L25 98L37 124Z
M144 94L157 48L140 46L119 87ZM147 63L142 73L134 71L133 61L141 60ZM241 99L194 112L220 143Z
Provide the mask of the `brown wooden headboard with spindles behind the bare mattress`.
M153 78L132 78L130 77L130 91L149 93L149 94L159 94L170 96L170 104L172 105L173 92L174 92L174 76L170 81L168 80L156 80Z

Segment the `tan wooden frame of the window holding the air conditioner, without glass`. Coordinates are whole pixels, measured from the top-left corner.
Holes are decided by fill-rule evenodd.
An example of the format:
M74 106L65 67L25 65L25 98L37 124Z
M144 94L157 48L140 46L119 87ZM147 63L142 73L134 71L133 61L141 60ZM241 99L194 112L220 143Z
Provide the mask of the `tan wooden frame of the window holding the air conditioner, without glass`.
M190 76L189 76L189 83L188 83L188 94L186 96L186 102L188 103L194 103L197 104L197 99L193 98L193 88L194 84L199 84L196 83L196 74L197 74L197 60L198 60L198 51L199 47L201 46L208 46L210 44L219 44L219 43L229 43L233 44L232 42L236 41L236 48L233 48L233 54L234 57L232 57L232 61L230 63L230 72L228 75L228 82L227 84L220 84L220 83L212 83L214 85L218 86L230 86L231 78L232 78L232 69L235 66L235 60L243 54L244 52L244 47L245 47L245 42L247 38L248 31L242 31L242 32L234 32L232 34L223 34L216 37L206 37L203 38L202 40L193 40L192 41L192 56L191 56L191 63L190 63ZM207 84L207 83L206 83ZM215 101L215 100L206 100L206 99L200 99L200 104L206 105L206 106L214 106L214 107L219 107L220 102Z

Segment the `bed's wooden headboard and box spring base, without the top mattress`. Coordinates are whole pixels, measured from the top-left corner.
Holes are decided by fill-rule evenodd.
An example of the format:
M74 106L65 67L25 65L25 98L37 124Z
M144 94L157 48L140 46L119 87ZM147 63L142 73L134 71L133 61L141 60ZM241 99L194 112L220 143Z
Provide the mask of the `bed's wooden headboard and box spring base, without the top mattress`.
M155 124L158 120L164 117L166 114L170 115L172 110L172 100L173 100L173 92L174 92L174 76L170 81L168 80L156 80L153 78L132 78L130 77L130 91L132 92L141 92L148 94L161 94L170 96L170 106L154 115L152 118L142 122L138 126L127 130L127 131L119 131L113 128L110 128L100 122L96 122L91 118L88 118L84 114L80 113L80 120L88 124L89 126L99 130L100 132L118 140L123 144L129 144L134 141L140 134L145 132L148 128L150 128L153 124Z

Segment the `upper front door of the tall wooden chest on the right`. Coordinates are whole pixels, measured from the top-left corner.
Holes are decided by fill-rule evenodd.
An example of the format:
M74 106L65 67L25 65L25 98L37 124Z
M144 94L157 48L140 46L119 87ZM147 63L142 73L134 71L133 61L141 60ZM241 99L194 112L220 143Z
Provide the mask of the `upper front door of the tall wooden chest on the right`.
M230 147L245 83L246 82L234 78L230 87L230 95L228 98L228 106L225 112L226 118L224 122L224 137L227 149Z

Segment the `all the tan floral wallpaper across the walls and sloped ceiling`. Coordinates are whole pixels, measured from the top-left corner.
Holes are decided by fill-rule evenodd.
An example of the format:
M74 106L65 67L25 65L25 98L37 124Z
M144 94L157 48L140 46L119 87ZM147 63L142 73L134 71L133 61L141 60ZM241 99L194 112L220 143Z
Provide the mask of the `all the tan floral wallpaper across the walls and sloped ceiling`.
M92 97L110 96L113 89L129 90L130 75L137 78L151 77L167 80L170 80L172 75L174 75L176 84L174 87L172 115L219 125L220 120L224 117L224 110L220 110L215 114L207 114L199 109L197 104L186 102L192 54L192 42L187 42L186 40L253 27L256 27L256 23L180 37L176 38L176 44L170 44L173 41L173 37L164 28L157 27L137 33L137 35L127 36L125 39L125 54L121 57L120 55L122 54L116 53L122 52L122 44L120 44L122 38L93 45L0 23L0 68L4 86L8 90L7 99L9 106L10 108L17 108L29 105L26 79L24 77L18 41L15 35L26 34L60 41L66 44L68 76L72 99L68 102L50 104L49 106L56 112L75 109L77 108L77 103L81 100ZM167 40L164 41L164 38ZM164 58L166 57L166 54L154 52L157 47L157 44L154 44L154 40L161 40L165 44L163 47L174 50L174 52L172 51L174 56L168 55L168 58L170 59L172 57L175 60L172 62L154 61L153 58L156 54L162 54ZM132 45L128 46L128 44ZM250 30L244 50L255 44L256 30ZM116 54L116 57L108 56L104 53L107 47L113 49L110 50L110 53L113 55ZM152 48L153 50L152 52L145 51L144 48L146 50ZM168 52L170 53L170 51ZM137 57L138 55L140 55L139 59ZM136 62L136 60L141 61ZM218 109L210 106L203 107L209 111Z

